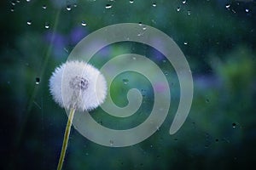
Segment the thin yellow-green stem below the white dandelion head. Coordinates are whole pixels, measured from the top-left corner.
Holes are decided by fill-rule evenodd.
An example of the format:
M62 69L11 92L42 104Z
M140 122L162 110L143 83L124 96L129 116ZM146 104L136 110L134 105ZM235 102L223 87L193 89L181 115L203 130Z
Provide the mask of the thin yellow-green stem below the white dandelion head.
M66 126L66 130L65 130L65 134L64 134L64 139L63 139L62 148L61 148L61 156L59 159L57 170L61 170L64 158L66 155L67 143L68 143L69 133L70 133L70 129L71 129L72 122L73 122L74 112L75 112L75 109L71 108L71 110L69 112L68 120L67 120L67 126Z

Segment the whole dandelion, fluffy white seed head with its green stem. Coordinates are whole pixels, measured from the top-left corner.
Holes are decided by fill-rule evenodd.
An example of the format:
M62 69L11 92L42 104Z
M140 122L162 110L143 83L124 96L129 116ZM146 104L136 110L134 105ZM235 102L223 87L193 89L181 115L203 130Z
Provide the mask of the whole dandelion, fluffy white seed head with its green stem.
M83 61L67 61L57 67L49 79L49 91L61 107L69 110L67 127L57 169L61 169L75 111L91 111L104 102L107 82L92 65Z

